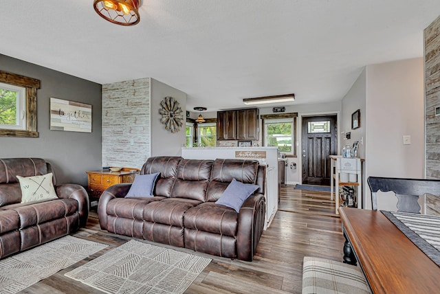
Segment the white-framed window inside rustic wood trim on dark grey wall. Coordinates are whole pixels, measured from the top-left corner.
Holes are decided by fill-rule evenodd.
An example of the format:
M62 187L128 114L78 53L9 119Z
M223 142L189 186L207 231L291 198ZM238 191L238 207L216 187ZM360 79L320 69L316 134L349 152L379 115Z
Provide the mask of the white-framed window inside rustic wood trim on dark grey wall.
M26 129L26 89L0 82L0 128Z

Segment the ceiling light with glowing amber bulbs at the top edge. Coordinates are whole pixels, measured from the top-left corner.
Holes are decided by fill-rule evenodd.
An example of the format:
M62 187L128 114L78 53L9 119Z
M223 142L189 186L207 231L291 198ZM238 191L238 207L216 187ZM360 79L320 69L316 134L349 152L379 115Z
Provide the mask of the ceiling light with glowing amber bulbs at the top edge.
M135 25L140 21L141 0L95 0L94 8L103 19L117 25Z

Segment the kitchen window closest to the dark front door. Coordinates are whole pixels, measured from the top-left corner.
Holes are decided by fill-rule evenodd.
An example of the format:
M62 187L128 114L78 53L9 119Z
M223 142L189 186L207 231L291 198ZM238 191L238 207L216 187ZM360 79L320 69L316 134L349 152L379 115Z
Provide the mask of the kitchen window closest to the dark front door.
M294 118L264 120L264 145L294 155Z

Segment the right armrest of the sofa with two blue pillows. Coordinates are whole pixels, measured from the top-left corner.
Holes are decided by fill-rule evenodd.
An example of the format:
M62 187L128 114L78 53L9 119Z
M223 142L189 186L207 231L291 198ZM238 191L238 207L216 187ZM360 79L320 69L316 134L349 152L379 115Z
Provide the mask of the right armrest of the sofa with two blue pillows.
M256 245L263 234L266 201L263 194L246 199L239 212L239 229L236 234L237 258L252 261Z

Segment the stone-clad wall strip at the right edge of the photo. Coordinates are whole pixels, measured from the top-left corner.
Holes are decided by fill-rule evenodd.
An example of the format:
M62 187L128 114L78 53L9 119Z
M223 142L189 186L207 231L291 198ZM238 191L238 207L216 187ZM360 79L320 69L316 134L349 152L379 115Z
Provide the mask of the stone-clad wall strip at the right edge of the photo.
M440 16L424 31L426 178L440 179Z

